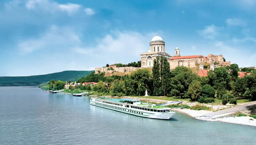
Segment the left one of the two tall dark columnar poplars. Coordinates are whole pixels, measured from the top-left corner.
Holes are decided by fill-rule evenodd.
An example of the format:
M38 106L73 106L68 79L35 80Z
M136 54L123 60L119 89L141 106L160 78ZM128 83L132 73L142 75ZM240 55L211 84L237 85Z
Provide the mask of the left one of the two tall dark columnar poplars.
M154 96L160 96L161 92L161 83L160 83L160 65L159 65L159 57L157 56L156 59L154 59L154 65L152 68L153 73L153 95Z

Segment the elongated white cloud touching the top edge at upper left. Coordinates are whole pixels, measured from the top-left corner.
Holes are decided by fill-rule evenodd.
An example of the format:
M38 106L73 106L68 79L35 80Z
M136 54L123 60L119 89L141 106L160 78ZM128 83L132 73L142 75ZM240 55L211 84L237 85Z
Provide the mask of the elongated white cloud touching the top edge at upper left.
M28 10L42 10L51 13L62 11L72 15L81 8L81 5L73 3L59 4L51 0L28 0L26 8Z

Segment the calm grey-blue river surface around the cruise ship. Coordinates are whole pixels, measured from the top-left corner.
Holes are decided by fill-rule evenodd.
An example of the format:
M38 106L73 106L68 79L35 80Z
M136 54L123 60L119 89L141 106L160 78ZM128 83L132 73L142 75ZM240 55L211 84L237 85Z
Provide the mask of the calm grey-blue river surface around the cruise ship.
M0 87L0 144L248 145L256 127L200 121L177 113L148 119L89 104L90 97Z

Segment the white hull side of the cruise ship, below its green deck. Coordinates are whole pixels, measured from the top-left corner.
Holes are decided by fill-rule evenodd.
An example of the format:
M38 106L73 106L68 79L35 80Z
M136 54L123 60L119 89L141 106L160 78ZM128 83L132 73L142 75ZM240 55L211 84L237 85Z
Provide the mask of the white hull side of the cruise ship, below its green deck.
M131 114L131 115L136 115L136 116L141 116L146 118L153 118L153 119L168 120L175 114L175 112L152 112L152 111L139 110L131 107L125 107L124 105L118 106L118 105L106 104L102 102L96 102L95 99L90 100L90 105L95 105L95 106Z

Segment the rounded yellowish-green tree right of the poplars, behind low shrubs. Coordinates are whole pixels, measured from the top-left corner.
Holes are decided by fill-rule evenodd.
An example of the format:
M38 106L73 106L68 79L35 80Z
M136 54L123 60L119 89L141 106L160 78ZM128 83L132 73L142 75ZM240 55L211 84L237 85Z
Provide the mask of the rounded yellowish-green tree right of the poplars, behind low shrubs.
M201 84L194 80L188 87L188 95L192 101L196 101L201 95Z

